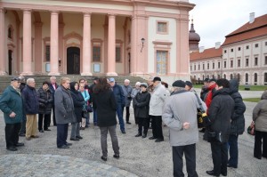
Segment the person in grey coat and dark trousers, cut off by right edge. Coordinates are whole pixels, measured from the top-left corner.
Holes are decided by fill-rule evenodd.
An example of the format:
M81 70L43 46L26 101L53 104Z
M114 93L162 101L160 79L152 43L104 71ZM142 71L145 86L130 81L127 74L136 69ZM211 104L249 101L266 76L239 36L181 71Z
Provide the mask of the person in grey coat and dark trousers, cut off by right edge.
M264 91L261 101L253 109L252 116L255 121L254 157L267 158L267 90Z

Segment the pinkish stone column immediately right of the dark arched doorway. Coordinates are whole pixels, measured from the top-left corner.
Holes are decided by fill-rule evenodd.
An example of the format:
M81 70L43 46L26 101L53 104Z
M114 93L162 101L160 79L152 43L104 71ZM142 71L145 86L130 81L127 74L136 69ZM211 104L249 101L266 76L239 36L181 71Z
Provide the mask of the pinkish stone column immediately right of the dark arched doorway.
M92 76L91 72L91 13L84 13L83 66L82 76Z

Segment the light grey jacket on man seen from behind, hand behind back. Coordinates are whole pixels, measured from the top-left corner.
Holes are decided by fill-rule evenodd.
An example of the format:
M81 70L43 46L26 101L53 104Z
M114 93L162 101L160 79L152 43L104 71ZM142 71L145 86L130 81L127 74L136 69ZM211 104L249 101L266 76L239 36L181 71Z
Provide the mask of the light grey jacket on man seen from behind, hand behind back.
M170 128L171 146L185 146L198 142L197 97L185 90L172 93L166 99L162 120ZM190 128L183 130L184 122L190 123Z

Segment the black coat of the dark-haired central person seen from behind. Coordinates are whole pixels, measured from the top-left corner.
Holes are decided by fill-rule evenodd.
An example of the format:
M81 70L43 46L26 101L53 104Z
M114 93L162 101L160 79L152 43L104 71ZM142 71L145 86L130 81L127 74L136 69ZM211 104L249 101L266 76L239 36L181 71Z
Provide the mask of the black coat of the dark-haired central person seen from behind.
M93 109L97 112L97 125L107 127L117 125L117 101L112 91L93 93Z

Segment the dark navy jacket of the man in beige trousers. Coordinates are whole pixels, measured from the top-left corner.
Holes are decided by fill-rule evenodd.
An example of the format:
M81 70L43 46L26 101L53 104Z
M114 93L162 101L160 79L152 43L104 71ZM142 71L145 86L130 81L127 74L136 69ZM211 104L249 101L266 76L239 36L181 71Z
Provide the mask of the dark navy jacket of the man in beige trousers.
M23 94L23 105L25 107L26 115L38 114L39 99L37 97L36 88L26 85L22 91Z

